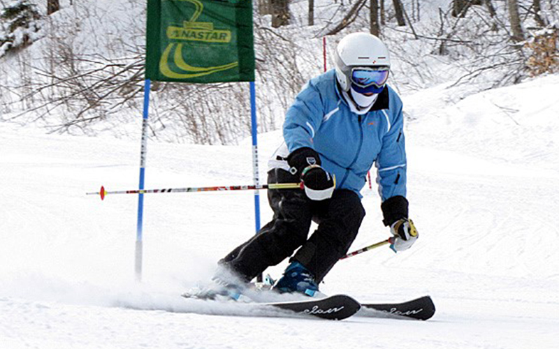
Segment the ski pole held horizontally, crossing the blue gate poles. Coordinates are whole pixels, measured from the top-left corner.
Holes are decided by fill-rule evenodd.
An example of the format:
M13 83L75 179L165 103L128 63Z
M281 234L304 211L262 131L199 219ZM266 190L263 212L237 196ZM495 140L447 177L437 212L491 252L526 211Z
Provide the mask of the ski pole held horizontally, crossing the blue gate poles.
M148 193L194 193L198 191L257 191L261 189L298 189L303 188L302 183L273 183L249 186L198 186L189 188L166 188L166 189L135 189L129 191L106 191L101 186L100 191L85 193L85 195L101 195L101 200L108 194L148 194Z

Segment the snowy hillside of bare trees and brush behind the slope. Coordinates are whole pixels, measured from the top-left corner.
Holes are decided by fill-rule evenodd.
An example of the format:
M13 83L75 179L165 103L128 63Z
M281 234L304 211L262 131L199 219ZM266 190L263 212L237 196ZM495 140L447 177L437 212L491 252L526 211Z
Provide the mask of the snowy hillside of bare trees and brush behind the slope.
M259 132L281 127L305 81L333 68L335 44L353 31L370 31L389 46L390 83L400 94L446 84L453 103L557 72L558 2L254 0ZM137 137L146 1L0 6L0 121ZM248 84L156 82L152 91L152 140L238 144L250 134Z

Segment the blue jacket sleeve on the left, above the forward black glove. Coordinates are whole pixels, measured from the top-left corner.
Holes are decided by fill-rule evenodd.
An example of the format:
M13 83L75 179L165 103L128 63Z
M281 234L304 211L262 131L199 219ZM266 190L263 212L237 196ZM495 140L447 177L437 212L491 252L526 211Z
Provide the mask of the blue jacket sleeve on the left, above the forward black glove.
M322 97L312 81L307 82L303 91L287 110L284 122L284 140L289 152L310 147L314 149L312 139L318 131L324 116Z

